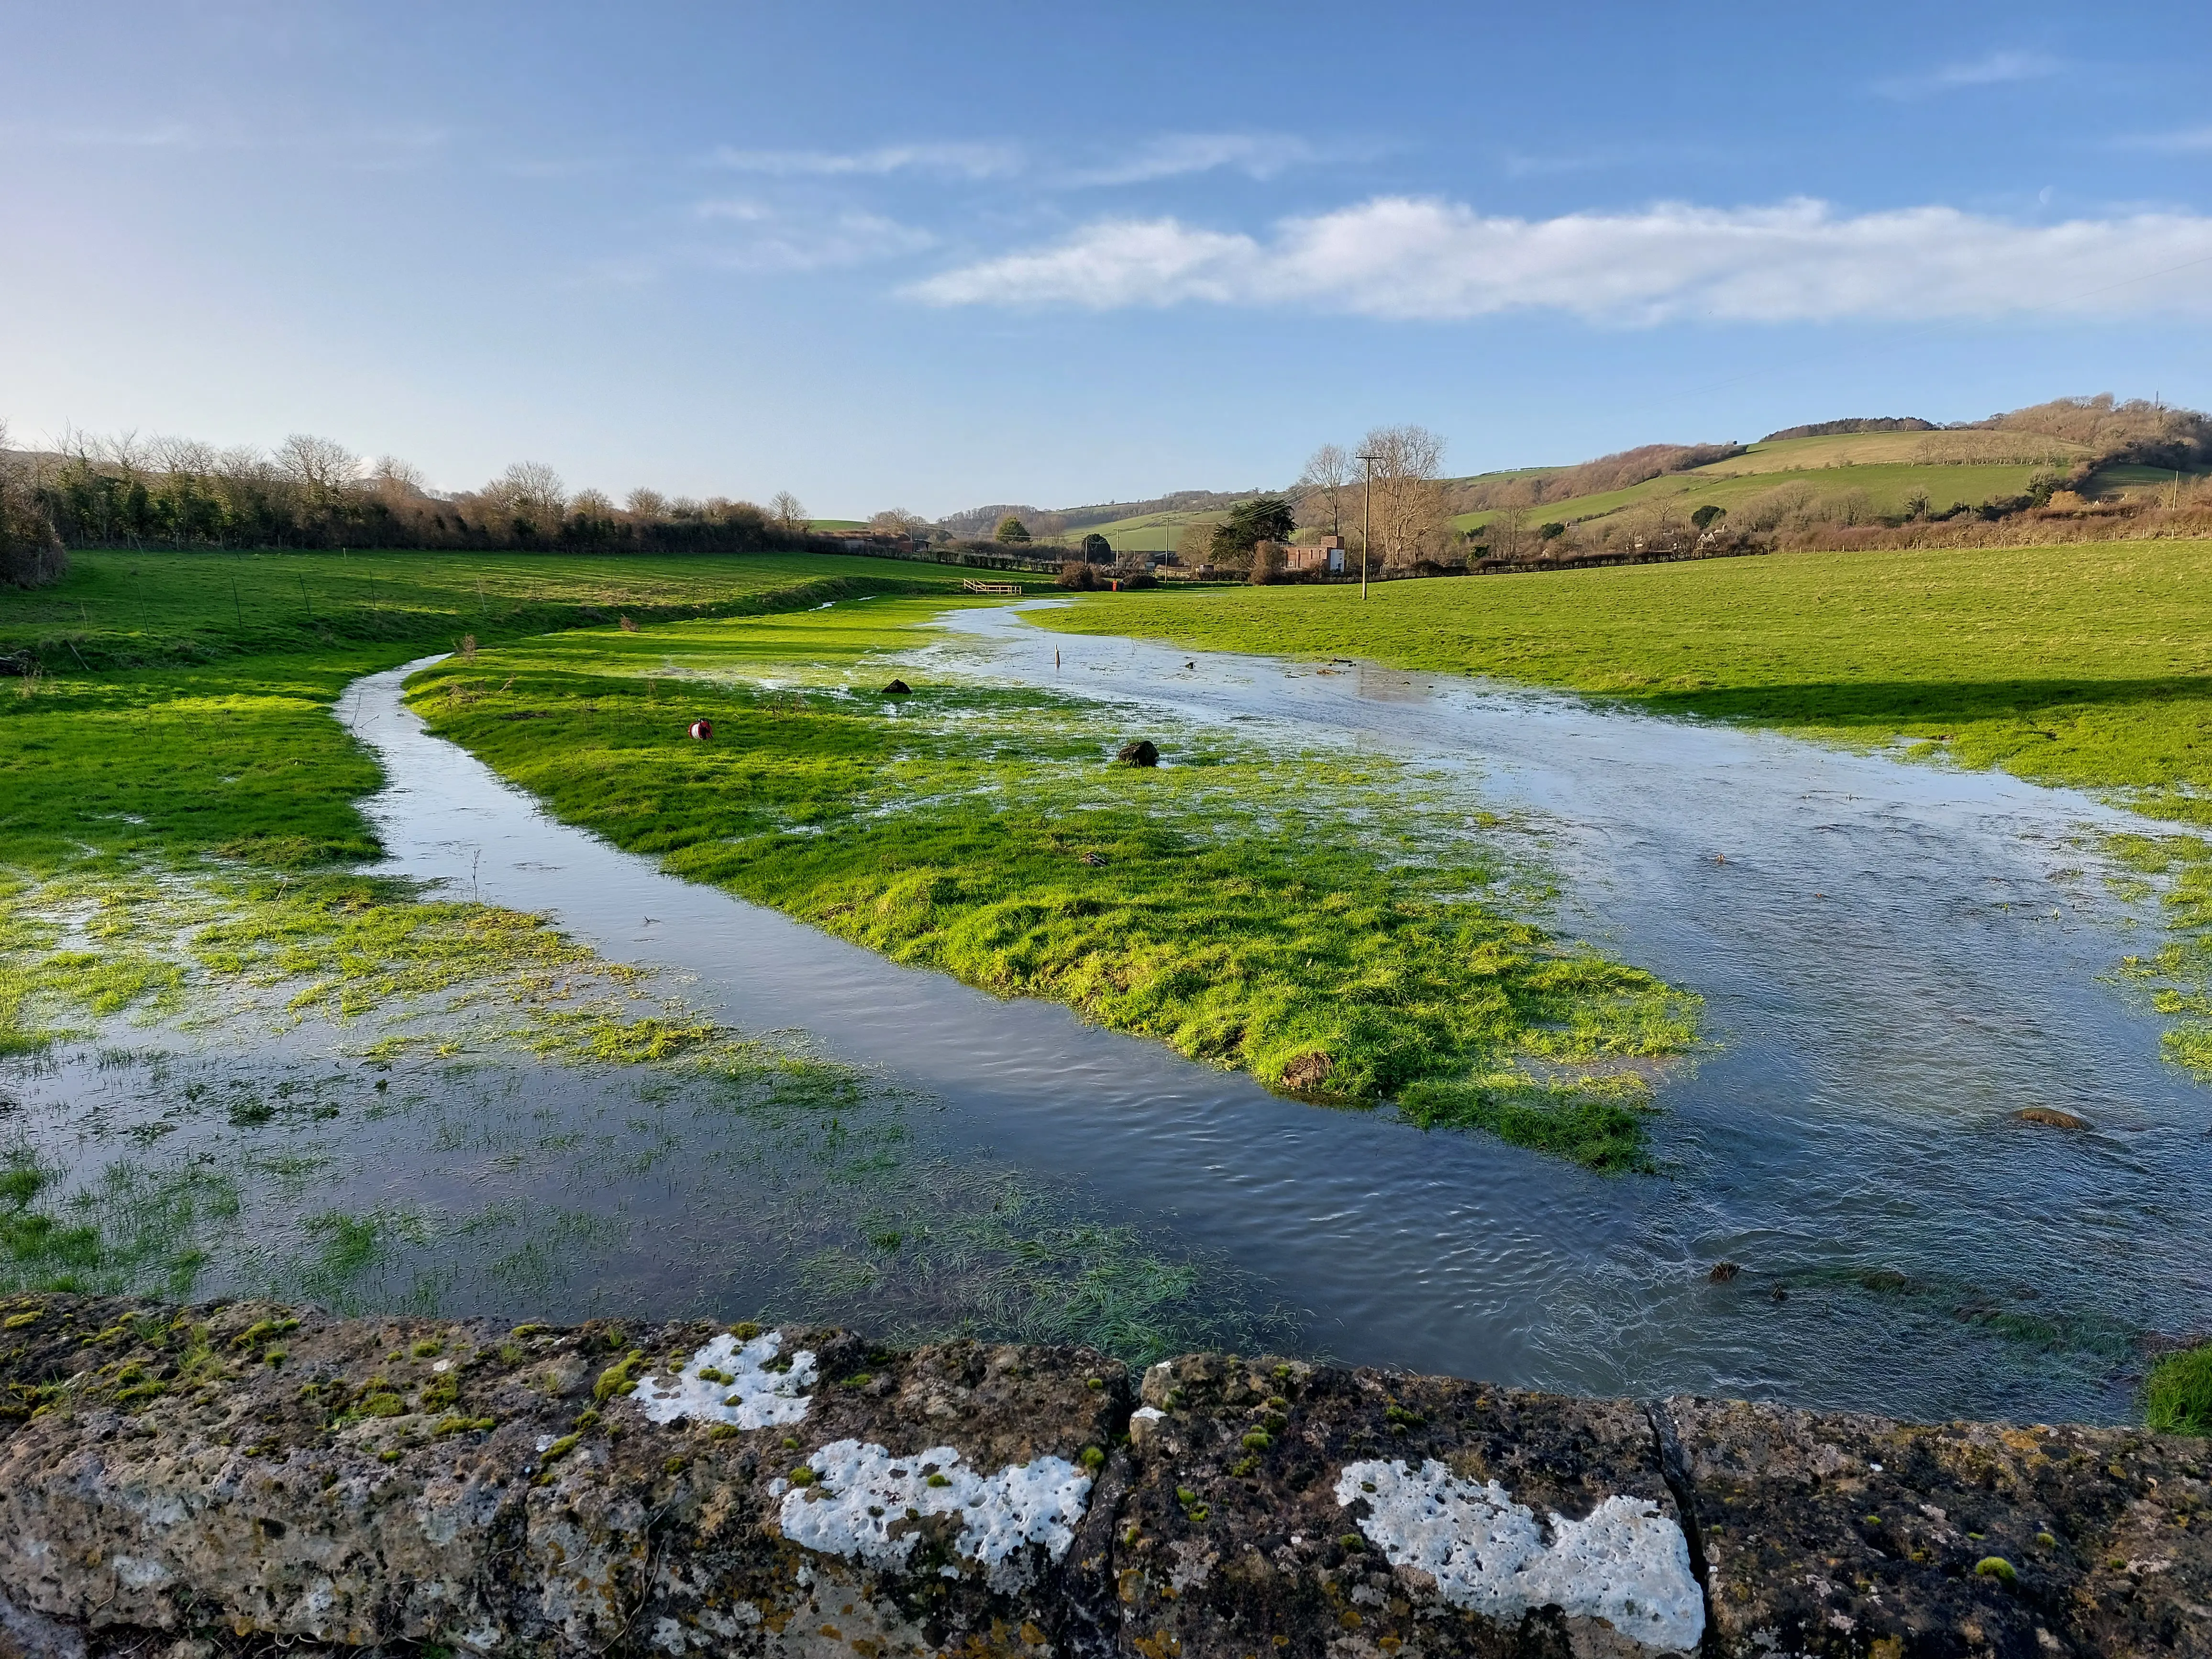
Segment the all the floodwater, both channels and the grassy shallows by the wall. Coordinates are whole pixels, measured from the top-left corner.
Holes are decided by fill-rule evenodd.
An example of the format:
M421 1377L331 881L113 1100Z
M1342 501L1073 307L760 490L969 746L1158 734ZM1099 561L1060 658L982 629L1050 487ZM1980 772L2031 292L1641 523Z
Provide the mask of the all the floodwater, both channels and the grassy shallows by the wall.
M1170 765L1208 723L1387 750L1420 810L1520 825L1542 920L1705 998L1708 1051L1659 1073L1661 1175L1281 1099L670 880L425 734L405 668L341 703L387 774L389 872L546 911L770 1048L639 1077L82 1046L20 1068L11 1117L86 1183L135 1170L115 1206L201 1206L228 1239L204 1290L363 1305L1057 1316L1571 1391L2088 1420L2130 1411L2146 1336L2212 1323L2212 1102L2106 978L2146 927L2099 854L2124 814L1013 611L900 661L1091 699L1102 741Z

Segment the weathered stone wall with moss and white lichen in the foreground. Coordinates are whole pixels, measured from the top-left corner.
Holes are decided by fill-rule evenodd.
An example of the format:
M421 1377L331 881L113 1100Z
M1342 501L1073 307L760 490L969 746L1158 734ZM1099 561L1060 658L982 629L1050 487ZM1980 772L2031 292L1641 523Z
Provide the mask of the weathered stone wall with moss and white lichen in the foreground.
M2212 1655L2208 1447L0 1301L0 1655Z

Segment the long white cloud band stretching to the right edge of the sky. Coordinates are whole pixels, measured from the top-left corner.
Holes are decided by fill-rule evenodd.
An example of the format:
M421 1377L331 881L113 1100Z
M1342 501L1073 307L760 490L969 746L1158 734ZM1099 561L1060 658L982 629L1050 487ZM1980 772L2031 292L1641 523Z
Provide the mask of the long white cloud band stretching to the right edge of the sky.
M1400 319L1557 310L1606 323L2119 316L2212 312L2208 263L2212 217L2192 212L2017 226L1955 208L1845 217L1794 199L1504 219L1378 197L1285 219L1265 241L1177 219L1106 219L907 292L936 305L1203 301Z

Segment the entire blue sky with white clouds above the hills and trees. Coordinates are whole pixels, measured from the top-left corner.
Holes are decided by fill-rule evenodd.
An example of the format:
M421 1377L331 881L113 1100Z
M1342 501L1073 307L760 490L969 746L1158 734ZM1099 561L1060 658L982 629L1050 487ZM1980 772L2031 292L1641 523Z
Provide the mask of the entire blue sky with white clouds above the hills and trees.
M2212 405L2201 4L0 0L0 416L816 513Z

